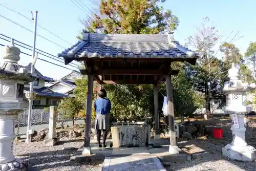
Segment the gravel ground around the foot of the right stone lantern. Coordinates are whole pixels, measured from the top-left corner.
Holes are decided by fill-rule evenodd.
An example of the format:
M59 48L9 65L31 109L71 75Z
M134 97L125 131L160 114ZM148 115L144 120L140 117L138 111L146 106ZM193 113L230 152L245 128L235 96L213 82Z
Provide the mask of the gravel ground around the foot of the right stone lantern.
M211 136L201 137L200 139L191 139L188 141L180 140L179 146L183 146L183 150L189 154L197 152L207 152L200 157L194 158L191 161L184 163L172 163L165 166L167 171L170 170L256 170L256 162L241 162L233 161L222 156L222 147L232 141L232 132L230 131L230 124L222 124L224 130L223 139L214 139ZM247 129L246 139L247 142L255 142L255 131ZM255 144L250 144L254 147Z

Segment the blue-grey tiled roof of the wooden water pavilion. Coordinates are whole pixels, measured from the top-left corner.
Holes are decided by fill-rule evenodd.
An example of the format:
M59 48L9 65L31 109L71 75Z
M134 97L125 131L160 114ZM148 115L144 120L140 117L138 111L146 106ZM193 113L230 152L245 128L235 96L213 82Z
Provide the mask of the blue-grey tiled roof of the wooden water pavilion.
M83 58L183 58L197 59L198 55L182 47L172 34L97 34L84 33L83 41L58 54L67 65Z

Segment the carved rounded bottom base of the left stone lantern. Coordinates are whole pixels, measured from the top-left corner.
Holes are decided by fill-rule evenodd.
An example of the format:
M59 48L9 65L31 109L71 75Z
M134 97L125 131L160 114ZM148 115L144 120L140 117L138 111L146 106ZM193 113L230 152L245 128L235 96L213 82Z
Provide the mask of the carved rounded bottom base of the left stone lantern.
M27 170L27 165L21 159L15 159L10 163L0 164L1 171L25 171Z

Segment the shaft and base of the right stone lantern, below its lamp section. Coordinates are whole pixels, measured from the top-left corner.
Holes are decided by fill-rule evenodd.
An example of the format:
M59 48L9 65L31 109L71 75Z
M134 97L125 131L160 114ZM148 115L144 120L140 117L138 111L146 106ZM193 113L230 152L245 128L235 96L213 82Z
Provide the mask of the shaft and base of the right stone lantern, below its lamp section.
M231 115L232 120L235 117ZM232 124L231 131L233 141L222 148L222 154L233 160L254 161L256 160L256 149L245 142L244 115L237 115L238 124Z

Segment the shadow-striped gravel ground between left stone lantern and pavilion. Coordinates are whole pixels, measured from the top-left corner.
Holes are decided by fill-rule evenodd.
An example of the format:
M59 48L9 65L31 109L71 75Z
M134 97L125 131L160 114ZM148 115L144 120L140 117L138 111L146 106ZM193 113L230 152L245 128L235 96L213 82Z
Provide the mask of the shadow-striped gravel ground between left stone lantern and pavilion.
M67 139L61 139L65 141ZM100 165L82 165L69 160L70 156L83 145L83 140L74 139L56 146L43 146L42 141L14 143L13 153L29 165L29 170L100 170Z

